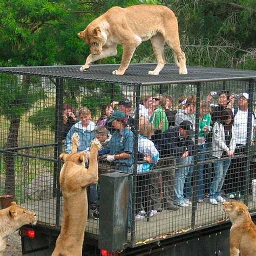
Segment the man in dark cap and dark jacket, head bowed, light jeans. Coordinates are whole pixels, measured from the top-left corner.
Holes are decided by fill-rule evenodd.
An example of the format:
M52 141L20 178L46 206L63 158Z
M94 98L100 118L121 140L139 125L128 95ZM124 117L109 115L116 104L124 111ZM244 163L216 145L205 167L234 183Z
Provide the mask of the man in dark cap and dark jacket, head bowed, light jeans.
M176 165L186 165L176 169L174 160L173 166L170 166L167 171L168 173L162 173L163 182L167 183L165 189L167 210L177 210L173 203L181 207L189 206L184 198L183 188L192 162L194 143L191 138L193 136L193 125L187 120L181 122L179 126L168 129L161 135L158 145L161 157L174 156L176 157Z

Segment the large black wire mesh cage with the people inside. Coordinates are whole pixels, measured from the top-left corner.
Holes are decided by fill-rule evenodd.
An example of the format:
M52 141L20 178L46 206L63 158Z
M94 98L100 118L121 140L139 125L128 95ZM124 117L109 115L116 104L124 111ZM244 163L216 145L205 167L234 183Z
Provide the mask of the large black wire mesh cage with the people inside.
M98 234L100 175L130 173L127 240L158 241L226 221L225 200L256 210L255 72L167 65L0 69L0 193L60 228L59 155L99 139L99 181L87 188L86 232ZM87 163L88 166L90 163ZM120 207L117 205L116 207Z

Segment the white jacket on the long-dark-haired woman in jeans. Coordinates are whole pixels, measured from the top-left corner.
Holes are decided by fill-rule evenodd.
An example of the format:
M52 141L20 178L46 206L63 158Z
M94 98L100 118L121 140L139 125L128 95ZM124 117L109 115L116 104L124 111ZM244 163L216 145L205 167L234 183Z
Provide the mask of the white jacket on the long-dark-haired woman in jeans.
M212 156L221 158L223 155L224 151L229 151L231 150L234 152L236 142L235 142L235 127L234 125L232 126L232 137L231 137L231 142L230 146L227 147L226 145L226 140L225 140L225 131L224 131L224 126L223 124L219 122L215 122L213 125L213 136L212 136Z

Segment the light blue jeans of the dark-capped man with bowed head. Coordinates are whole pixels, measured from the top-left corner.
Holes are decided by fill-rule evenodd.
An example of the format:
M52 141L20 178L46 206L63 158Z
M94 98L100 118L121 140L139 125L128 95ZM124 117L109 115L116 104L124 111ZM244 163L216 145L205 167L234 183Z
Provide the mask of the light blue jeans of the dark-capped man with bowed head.
M192 163L192 156L179 158L176 160L177 165L190 165ZM183 189L185 180L190 170L190 166L180 167L175 172L175 184L174 184L174 192L175 192L175 199L173 201L174 204L183 204L186 203L186 199L184 198Z

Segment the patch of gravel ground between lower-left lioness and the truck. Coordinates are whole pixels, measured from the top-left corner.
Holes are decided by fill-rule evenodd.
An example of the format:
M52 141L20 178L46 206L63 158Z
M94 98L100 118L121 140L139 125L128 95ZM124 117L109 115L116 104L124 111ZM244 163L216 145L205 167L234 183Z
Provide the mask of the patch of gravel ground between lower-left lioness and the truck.
M7 240L7 246L4 251L4 256L21 256L22 247L21 247L21 237L18 231L15 231L14 234L9 235Z

